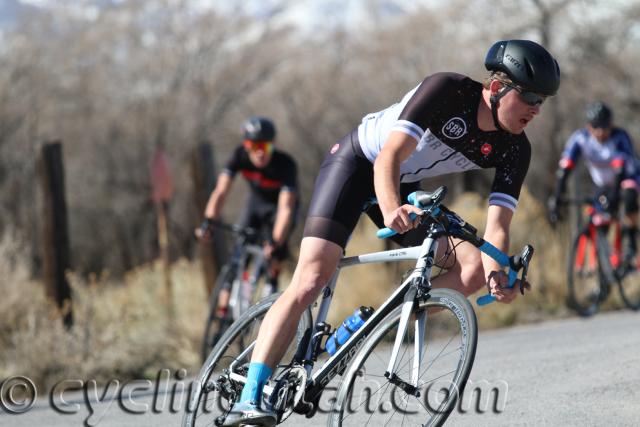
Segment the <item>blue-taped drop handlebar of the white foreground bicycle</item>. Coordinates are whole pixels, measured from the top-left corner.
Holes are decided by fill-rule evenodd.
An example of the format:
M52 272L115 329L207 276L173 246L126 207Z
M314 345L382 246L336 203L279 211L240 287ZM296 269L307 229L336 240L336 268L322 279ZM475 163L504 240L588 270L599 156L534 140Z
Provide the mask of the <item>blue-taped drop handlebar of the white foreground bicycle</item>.
M458 214L442 205L441 202L445 195L446 187L441 186L433 193L427 193L424 191L413 192L409 194L407 200L412 205L423 210L424 213L420 220L421 222L431 221L432 223L439 223L443 225L447 235L457 237L473 244L480 251L494 259L501 267L508 267L509 288L513 288L513 286L515 286L516 280L518 279L518 272L522 270L522 274L520 276L520 293L524 295L524 285L526 283L529 263L531 262L534 252L533 246L526 245L519 254L511 257L508 256L491 243L479 237L476 234L477 229L475 227L468 224L460 218ZM411 219L415 219L416 215L411 215L413 215L413 217L410 216ZM388 227L380 229L376 233L379 238L391 237L395 234L397 234L397 232ZM495 300L496 298L493 295L487 294L479 297L476 302L478 305L482 306L490 304Z

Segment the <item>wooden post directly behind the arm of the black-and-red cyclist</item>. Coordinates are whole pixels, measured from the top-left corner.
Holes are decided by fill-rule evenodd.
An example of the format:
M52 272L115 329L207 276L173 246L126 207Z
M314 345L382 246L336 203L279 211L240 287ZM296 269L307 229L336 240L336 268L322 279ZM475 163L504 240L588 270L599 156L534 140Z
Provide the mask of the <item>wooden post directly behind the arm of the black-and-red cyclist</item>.
M200 225L209 195L216 185L216 168L211 144L202 142L191 156L194 204L196 206L195 224ZM212 244L200 245L200 260L207 295L211 294L220 268L226 262L227 242L223 233L218 233Z

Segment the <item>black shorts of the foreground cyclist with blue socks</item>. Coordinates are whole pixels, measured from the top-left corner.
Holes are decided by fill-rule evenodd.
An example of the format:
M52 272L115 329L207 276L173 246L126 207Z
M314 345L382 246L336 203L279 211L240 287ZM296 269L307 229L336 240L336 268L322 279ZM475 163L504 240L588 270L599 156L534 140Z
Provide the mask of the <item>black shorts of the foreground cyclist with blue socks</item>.
M418 189L418 182L400 185L403 201ZM373 165L364 156L355 130L331 148L316 178L303 237L318 237L347 245L360 214L366 212L378 228L384 227L382 212L375 198ZM392 237L401 246L416 246L426 235L426 226Z

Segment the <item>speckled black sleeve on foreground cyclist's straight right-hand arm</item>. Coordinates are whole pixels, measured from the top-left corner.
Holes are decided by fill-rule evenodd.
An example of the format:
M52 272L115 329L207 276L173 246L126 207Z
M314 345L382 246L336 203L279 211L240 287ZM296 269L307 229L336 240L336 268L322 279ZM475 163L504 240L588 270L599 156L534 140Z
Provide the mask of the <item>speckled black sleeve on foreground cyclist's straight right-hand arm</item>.
M529 170L531 144L524 137L514 144L496 166L496 173L489 195L489 205L503 206L516 210L520 190Z

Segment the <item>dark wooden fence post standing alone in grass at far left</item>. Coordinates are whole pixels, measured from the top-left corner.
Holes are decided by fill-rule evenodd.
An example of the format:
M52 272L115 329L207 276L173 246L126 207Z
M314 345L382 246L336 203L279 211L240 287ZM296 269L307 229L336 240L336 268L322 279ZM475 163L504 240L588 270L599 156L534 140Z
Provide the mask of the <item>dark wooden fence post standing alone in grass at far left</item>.
M43 267L47 296L60 308L67 328L73 324L71 287L66 271L71 266L62 144L42 145L40 180L44 195Z

